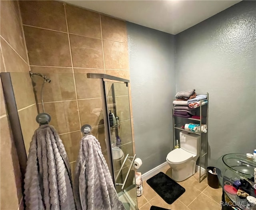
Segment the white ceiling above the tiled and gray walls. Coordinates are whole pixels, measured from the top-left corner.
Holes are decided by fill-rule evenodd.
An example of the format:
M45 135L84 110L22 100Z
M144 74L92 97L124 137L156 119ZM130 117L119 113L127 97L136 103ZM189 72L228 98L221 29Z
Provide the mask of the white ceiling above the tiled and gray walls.
M64 0L122 20L178 34L240 0Z

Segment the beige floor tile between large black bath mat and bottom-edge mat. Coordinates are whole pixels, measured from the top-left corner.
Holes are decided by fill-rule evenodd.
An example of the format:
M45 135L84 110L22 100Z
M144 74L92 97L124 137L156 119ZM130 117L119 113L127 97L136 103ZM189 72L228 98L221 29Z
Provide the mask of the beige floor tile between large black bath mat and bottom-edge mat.
M180 200L174 201L172 204L166 203L160 196L154 197L152 200L149 201L151 206L158 206L161 208L167 208L171 210L188 210L188 208L180 202Z

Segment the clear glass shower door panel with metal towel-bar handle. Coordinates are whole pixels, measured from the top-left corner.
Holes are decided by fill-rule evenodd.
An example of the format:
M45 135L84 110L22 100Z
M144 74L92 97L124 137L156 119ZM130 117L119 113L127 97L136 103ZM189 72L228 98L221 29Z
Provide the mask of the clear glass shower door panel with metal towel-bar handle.
M126 210L137 209L128 83L104 81L114 184Z

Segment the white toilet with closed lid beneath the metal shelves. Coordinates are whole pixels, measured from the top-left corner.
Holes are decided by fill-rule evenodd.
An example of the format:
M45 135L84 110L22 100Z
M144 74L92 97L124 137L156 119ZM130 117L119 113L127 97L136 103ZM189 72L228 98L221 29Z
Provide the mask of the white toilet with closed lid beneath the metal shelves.
M172 168L172 179L181 182L192 176L199 157L200 136L190 132L180 132L180 148L169 152L166 161Z

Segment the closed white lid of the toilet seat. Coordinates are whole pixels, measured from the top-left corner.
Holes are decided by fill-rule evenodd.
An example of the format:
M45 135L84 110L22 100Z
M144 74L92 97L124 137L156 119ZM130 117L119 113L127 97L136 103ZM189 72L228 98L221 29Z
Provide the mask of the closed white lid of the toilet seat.
M177 148L169 152L166 159L172 164L181 164L191 159L192 157L192 153L182 150L182 148Z

